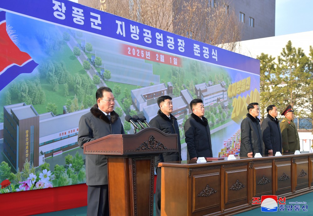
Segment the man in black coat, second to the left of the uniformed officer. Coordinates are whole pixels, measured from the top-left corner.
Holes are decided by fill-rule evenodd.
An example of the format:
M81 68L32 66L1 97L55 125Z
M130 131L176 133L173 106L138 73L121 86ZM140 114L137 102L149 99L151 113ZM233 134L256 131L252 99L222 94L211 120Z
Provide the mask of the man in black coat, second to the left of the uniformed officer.
M264 144L259 116L259 103L249 103L247 117L242 120L240 157L254 157L255 153L264 155Z

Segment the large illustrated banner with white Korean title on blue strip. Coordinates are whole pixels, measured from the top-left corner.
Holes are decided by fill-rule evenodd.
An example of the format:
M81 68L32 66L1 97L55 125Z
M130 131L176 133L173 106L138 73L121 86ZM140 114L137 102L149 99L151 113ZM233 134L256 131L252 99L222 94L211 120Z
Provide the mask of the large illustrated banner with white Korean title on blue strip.
M125 115L149 121L170 95L183 160L189 103L201 98L213 156L227 157L259 101L259 61L66 0L1 1L1 193L85 183L78 122L101 86L128 133Z

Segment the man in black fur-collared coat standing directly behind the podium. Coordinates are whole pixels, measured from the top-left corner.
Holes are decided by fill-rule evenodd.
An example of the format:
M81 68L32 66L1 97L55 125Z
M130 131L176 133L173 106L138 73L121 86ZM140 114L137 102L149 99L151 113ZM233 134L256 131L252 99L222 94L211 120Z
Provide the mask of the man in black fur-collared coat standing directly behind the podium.
M155 157L156 167L156 215L161 215L161 167L158 167L160 162L181 161L181 145L177 119L171 114L173 112L172 97L163 95L157 99L159 111L156 117L151 119L151 127L162 130L166 134L177 134L178 152L162 153ZM177 180L178 181L178 180Z

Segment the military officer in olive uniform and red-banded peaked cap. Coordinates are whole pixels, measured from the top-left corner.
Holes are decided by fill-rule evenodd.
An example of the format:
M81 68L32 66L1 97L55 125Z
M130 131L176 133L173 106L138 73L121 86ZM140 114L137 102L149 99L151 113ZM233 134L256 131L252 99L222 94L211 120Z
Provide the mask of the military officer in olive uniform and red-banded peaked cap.
M281 121L280 131L283 141L283 152L293 153L296 150L300 150L300 139L294 119L294 111L289 105L282 113L285 118Z

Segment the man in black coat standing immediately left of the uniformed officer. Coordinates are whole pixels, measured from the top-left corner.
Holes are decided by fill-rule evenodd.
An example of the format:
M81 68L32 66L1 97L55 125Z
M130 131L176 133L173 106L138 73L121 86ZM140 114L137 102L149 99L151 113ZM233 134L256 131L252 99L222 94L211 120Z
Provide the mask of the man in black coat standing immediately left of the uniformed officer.
M265 145L264 154L276 154L276 152L282 153L282 140L279 126L279 120L276 118L278 115L277 107L275 105L269 105L266 108L267 117L262 122L262 138Z

